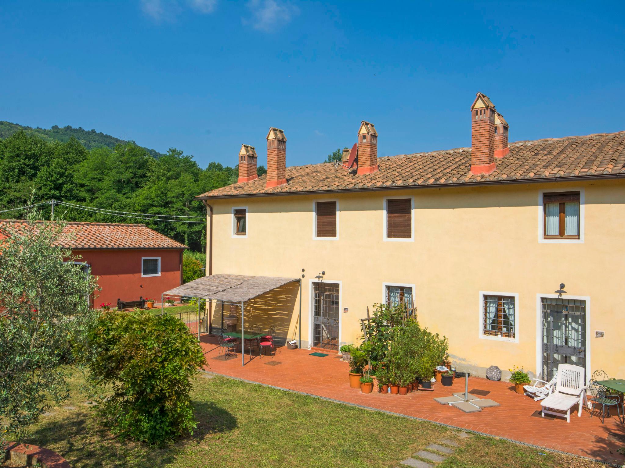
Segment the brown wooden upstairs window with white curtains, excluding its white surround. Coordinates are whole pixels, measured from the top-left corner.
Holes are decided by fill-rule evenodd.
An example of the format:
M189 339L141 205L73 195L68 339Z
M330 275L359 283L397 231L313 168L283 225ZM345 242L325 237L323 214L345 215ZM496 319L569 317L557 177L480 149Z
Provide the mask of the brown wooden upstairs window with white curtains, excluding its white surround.
M545 239L579 239L579 192L542 195Z

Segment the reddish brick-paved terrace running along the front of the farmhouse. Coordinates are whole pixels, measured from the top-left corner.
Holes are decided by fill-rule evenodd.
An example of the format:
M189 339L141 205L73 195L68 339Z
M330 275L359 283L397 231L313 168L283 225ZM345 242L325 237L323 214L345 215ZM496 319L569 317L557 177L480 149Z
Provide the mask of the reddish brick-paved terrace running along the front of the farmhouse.
M419 417L602 461L621 464L625 461L625 457L616 452L616 449L625 447L625 426L616 417L606 418L605 424L601 424L601 419L596 416L591 418L587 409L582 411L581 417L577 417L577 411L571 414L570 423L562 418L534 417L532 414L540 409L540 402L516 394L507 382L469 378L469 391L488 391L484 398L491 398L501 406L464 414L459 409L434 401L434 397L464 392L464 379L456 379L451 387L435 384L433 392L417 391L407 396L363 394L359 389L349 388L349 366L333 353L318 358L309 356L311 351L307 349L277 348L273 359L252 356L247 363L249 357L246 354L246 366L242 367L241 354L227 361L223 360L223 356L217 358L219 346L216 338L202 336L202 347L209 364L206 369L224 376Z

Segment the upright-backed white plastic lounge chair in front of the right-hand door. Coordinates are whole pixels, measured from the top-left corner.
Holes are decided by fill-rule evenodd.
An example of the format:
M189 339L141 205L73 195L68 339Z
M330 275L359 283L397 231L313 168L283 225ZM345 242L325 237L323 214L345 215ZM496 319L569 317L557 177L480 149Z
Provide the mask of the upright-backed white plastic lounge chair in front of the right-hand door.
M562 411L566 411L566 422L571 422L571 408L576 404L579 404L577 416L581 416L582 402L588 404L585 377L584 368L572 364L559 364L556 389L549 391L547 397L541 401L541 416L544 417L545 414L564 416Z

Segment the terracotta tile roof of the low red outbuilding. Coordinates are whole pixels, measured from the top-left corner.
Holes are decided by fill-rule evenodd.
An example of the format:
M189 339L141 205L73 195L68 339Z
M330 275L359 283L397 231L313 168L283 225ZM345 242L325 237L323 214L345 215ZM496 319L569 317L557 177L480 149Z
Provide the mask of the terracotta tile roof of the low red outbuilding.
M26 226L24 220L0 220L0 234L7 225ZM37 225L44 225L37 222ZM144 224L67 223L59 246L73 249L169 249L187 248Z

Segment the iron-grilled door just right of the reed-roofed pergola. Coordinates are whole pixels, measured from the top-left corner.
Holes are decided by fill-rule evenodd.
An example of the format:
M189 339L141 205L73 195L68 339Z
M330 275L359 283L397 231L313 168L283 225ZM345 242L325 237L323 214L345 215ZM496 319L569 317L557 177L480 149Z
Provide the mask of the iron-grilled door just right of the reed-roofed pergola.
M312 346L339 350L339 285L312 283Z

